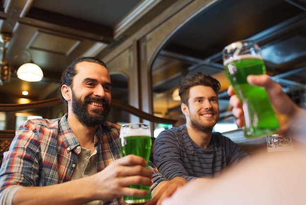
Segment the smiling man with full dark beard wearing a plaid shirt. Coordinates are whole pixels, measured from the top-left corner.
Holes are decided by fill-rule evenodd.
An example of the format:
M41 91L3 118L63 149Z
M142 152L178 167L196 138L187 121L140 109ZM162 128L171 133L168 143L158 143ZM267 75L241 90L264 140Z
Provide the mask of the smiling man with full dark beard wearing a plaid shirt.
M0 168L1 205L122 205L124 195L147 195L131 184L151 186L153 205L187 182L168 181L141 157L121 158L120 126L106 121L111 82L104 62L73 61L61 93L67 114L27 120L16 131Z

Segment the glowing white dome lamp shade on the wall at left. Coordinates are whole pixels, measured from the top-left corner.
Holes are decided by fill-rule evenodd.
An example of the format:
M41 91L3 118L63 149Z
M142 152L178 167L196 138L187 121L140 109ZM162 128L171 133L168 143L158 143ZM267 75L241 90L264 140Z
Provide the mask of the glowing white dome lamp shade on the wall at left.
M25 81L36 82L43 79L44 73L43 70L36 64L26 63L18 68L17 76Z

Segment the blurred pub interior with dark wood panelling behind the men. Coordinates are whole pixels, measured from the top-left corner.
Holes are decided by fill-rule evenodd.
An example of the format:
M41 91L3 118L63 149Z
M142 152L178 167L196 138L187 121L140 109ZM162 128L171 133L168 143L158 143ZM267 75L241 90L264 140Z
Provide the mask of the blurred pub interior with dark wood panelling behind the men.
M58 97L66 66L79 56L96 56L108 66L115 101L175 123L153 122L117 108L111 110L109 121L148 122L154 137L163 129L183 124L178 85L184 76L203 72L216 77L222 86L215 130L243 141L243 136L237 137L241 130L229 107L221 58L224 46L241 39L259 43L267 74L299 106L306 107L306 0L0 3L1 69L3 61L11 68L10 81L0 86L0 107L20 108L24 103ZM29 62L21 52L24 50L43 70L41 81L17 77L18 68ZM61 103L37 109L2 109L0 129L16 130L25 119L61 117L65 113L66 106Z

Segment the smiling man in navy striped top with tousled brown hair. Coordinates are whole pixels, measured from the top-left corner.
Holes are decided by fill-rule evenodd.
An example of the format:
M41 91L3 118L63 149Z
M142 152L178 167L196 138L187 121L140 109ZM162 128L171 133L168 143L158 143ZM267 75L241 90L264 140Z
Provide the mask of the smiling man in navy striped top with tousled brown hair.
M162 131L154 140L153 160L168 179L214 178L247 157L238 144L213 132L219 120L217 79L200 72L179 86L186 124Z

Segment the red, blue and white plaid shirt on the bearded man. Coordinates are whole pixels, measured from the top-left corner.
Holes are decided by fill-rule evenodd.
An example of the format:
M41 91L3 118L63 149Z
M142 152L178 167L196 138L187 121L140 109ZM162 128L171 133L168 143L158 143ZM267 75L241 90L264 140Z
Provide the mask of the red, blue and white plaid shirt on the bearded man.
M71 180L81 149L68 125L66 115L58 119L31 119L16 131L9 151L4 153L0 168L0 195L11 185L47 186ZM120 126L110 122L100 125L94 136L97 150L97 172L121 158ZM150 162L153 190L166 180ZM121 205L122 198L104 201L105 205Z

